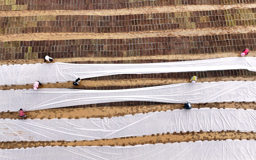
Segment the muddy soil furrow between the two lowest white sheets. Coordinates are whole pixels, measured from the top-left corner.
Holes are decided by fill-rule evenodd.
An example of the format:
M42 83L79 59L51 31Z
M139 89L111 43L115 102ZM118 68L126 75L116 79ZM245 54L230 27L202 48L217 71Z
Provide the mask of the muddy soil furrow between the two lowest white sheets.
M14 148L31 148L39 146L129 146L129 145L144 145L156 143L175 143L175 142L189 142L199 140L256 140L256 133L254 132L240 132L240 131L221 131L221 132L179 132L170 134L157 133L152 135L143 135L140 137L121 137L114 139L101 139L92 141L19 141L19 142L0 142L1 149L14 149Z

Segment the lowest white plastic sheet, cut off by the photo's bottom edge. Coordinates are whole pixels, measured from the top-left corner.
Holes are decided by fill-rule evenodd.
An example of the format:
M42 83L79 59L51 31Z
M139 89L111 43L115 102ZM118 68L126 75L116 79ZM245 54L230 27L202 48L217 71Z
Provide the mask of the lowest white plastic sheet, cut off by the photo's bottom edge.
M136 146L76 146L0 149L3 160L50 160L50 159L94 159L94 160L254 160L254 140L196 141L181 143L145 144Z

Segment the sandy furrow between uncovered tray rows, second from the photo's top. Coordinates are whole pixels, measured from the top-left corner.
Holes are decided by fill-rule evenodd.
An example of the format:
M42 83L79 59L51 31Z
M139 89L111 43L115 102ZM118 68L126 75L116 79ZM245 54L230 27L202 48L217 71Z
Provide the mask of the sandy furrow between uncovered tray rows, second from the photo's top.
M122 39L138 37L166 37L166 36L203 36L232 33L256 32L255 26L233 26L216 28L188 28L158 31L138 31L124 33L28 33L28 34L1 34L0 42L8 41L39 41L39 40L68 40L68 39Z

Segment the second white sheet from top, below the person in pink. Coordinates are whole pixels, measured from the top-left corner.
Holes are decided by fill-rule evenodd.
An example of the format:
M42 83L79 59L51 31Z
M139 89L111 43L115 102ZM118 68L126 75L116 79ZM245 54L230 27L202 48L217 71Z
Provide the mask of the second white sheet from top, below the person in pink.
M0 111L60 108L119 101L212 103L256 101L256 81L182 83L124 90L1 90Z

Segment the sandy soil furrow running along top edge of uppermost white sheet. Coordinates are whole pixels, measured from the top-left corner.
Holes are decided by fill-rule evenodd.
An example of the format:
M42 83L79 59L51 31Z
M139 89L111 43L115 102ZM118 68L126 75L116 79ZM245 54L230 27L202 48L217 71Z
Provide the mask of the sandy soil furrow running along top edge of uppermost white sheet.
M153 56L132 56L132 57L74 57L74 58L56 58L55 62L79 62L79 61L118 61L118 60L199 60L211 58L237 57L240 52L225 52L211 54L183 54L183 55L153 55ZM249 57L255 57L256 52L250 51ZM248 57L247 56L247 57ZM44 63L43 59L14 59L0 60L0 65L4 64L30 64Z

